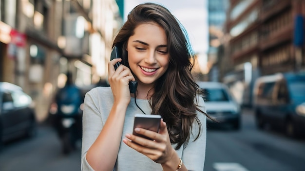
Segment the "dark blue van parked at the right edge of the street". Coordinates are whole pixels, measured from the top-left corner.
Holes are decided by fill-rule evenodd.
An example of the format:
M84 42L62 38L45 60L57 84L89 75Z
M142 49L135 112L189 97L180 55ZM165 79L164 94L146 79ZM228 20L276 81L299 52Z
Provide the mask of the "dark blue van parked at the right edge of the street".
M305 134L305 74L278 73L259 77L254 85L256 125L281 128L289 137Z

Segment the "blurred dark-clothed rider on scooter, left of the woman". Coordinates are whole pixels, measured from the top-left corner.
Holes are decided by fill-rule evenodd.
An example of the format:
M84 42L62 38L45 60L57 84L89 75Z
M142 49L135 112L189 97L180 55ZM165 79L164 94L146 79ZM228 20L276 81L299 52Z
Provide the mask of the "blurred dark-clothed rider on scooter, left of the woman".
M58 89L55 103L53 125L62 142L64 154L76 148L76 141L81 138L83 97L80 88L73 83L71 72L67 72L67 81L64 87Z

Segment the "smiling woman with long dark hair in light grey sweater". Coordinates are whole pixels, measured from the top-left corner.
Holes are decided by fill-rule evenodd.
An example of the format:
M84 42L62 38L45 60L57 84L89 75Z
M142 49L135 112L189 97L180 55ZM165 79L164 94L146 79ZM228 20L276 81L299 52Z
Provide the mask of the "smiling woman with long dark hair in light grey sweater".
M203 171L206 113L191 76L193 53L179 21L163 6L144 3L114 39L122 59L108 63L110 87L86 94L83 171ZM114 65L123 65L115 70ZM137 81L136 93L129 82ZM135 128L138 113L162 116L159 132Z

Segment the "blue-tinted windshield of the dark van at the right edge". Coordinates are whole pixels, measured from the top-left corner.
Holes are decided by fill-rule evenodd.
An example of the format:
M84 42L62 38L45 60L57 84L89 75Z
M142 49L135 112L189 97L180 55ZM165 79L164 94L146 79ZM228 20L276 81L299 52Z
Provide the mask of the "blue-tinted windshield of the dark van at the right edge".
M297 101L305 101L305 81L294 80L288 84L291 98Z

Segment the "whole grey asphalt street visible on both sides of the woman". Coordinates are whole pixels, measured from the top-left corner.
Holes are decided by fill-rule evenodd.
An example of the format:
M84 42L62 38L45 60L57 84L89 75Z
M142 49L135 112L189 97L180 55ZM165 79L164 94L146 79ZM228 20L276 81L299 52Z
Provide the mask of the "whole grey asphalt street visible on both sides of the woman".
M304 171L304 139L258 131L249 110L242 119L240 131L208 129L205 171ZM63 155L55 132L41 125L36 137L5 144L0 171L79 171L80 144L72 154Z

